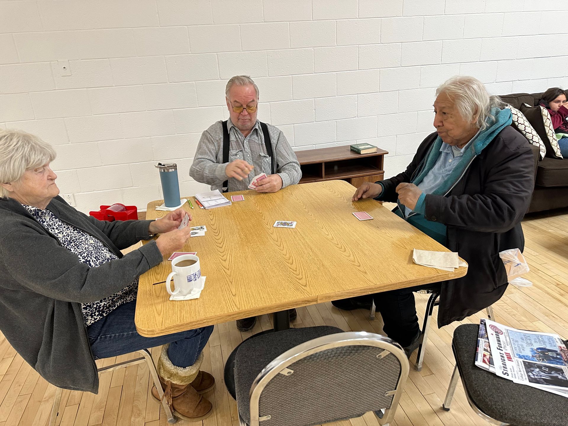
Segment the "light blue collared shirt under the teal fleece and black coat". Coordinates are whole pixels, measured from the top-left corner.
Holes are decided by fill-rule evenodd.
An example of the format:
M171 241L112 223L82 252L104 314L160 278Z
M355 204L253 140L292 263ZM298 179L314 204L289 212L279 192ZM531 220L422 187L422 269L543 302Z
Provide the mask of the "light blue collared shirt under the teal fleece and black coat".
M460 163L463 157L463 153L469 149L470 145L477 138L479 132L475 133L475 136L465 145L463 148L458 148L456 146L448 145L442 142L440 147L440 157L436 160L436 164L432 169L424 176L422 181L418 184L418 187L422 190L422 194L416 203L414 210L404 206L404 217L407 218L413 211L420 214L425 214L426 194L432 194L433 191L437 189L438 186L442 185L449 178L452 170Z

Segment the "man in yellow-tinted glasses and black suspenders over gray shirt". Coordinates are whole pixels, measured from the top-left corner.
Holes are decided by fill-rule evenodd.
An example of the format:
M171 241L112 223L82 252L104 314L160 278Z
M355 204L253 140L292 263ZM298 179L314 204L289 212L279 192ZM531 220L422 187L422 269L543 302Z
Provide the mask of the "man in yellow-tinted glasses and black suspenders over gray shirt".
M247 190L254 176L257 193L275 193L295 185L302 177L296 154L281 130L256 119L258 87L248 76L232 77L225 87L229 119L218 121L203 132L189 175L208 183L211 190L223 192ZM290 310L290 320L296 310ZM237 328L254 327L256 317L237 320Z

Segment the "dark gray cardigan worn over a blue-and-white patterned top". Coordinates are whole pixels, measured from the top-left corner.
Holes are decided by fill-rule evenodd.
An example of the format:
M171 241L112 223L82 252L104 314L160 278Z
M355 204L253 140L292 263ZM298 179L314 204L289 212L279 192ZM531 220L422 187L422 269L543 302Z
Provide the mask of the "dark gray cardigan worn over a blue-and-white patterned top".
M119 258L90 268L39 224L19 202L0 198L0 329L48 382L97 393L99 379L81 303L122 290L162 262L149 239L150 220L101 222L55 197L47 208L63 222L97 237Z

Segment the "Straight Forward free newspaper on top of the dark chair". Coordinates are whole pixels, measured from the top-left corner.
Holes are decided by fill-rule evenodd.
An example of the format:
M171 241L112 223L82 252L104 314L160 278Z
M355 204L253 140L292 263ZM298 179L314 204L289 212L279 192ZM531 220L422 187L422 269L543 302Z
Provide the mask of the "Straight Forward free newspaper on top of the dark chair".
M485 325L496 375L568 398L568 349L558 335Z

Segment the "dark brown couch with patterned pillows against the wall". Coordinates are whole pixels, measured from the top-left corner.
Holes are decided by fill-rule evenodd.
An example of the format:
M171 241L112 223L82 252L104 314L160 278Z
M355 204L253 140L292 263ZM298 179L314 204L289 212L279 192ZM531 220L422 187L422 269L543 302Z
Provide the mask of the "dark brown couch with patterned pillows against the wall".
M538 105L541 95L542 93L514 93L500 98L518 110L523 103L530 106ZM534 192L528 212L568 207L568 159L545 157L540 160L536 147L533 148L533 152L537 166Z

